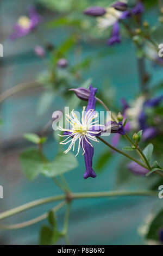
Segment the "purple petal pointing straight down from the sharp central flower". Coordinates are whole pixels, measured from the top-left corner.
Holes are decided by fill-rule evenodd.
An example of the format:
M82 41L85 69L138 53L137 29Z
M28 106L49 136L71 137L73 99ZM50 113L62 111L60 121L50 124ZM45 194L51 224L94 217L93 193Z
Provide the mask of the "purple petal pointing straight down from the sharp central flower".
M87 141L89 141L87 139ZM95 178L96 173L92 169L92 158L93 158L93 153L94 149L93 147L87 142L85 139L83 140L83 148L85 150L84 154L84 160L85 160L85 173L84 173L84 179L87 179L89 177Z

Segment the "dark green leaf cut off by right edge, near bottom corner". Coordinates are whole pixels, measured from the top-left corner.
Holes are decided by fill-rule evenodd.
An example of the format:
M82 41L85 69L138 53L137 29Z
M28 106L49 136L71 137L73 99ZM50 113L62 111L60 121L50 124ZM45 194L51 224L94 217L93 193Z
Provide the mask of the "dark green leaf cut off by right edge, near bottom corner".
M158 240L158 231L163 227L163 210L161 210L149 226L149 231L146 236L147 239Z

